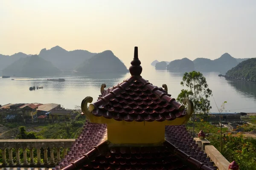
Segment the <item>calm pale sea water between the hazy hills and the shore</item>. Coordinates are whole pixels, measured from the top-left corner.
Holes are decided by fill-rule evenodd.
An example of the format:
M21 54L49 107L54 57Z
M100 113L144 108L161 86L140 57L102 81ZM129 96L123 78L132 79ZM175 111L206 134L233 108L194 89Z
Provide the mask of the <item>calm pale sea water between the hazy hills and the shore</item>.
M227 112L256 112L256 83L228 81L224 77L218 77L218 73L203 73L207 79L213 96L210 97L212 112L216 112L222 102L227 101ZM177 98L183 73L170 73L156 71L153 67L143 68L142 77L153 85L168 86L168 93ZM11 79L0 78L0 105L8 103L57 103L64 108L75 108L80 105L86 96L92 96L96 101L100 94L100 86L105 83L107 87L118 84L130 77L127 74L87 74L62 77L23 77ZM65 82L47 81L47 78L64 78ZM44 86L43 89L29 91L30 86ZM213 99L214 97L214 99Z

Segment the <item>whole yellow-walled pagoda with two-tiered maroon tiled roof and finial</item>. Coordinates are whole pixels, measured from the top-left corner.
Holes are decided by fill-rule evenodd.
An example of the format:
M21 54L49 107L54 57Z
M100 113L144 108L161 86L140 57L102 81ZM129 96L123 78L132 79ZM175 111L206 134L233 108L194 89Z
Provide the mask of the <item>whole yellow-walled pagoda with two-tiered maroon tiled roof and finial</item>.
M137 47L129 70L131 77L118 85L102 84L96 102L82 101L88 122L56 170L216 170L184 126L193 103L184 99L185 109L166 85L143 79Z

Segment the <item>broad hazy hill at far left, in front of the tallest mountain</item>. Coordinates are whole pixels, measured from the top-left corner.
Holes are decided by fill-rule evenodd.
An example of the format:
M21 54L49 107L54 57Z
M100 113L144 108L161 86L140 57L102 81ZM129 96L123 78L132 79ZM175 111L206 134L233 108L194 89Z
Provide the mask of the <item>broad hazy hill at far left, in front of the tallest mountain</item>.
M3 70L5 75L18 77L52 76L60 73L61 71L51 62L38 57L38 55L20 58Z

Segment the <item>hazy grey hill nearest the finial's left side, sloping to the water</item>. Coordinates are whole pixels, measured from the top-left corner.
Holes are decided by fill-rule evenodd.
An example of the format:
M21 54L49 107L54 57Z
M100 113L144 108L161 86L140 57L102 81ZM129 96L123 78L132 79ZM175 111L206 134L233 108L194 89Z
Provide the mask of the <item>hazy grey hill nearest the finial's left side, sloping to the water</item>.
M96 54L77 68L82 73L127 73L124 63L117 58L112 51L107 50Z

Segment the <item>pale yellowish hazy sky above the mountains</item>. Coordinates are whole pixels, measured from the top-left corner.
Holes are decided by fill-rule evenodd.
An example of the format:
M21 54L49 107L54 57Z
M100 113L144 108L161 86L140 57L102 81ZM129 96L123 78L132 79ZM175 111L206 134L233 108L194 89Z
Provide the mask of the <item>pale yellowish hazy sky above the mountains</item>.
M154 59L256 57L256 0L0 0L0 54L111 50L129 66L134 46Z

